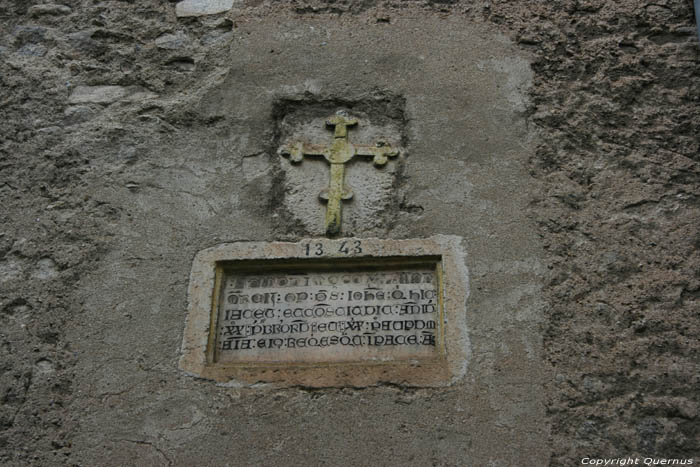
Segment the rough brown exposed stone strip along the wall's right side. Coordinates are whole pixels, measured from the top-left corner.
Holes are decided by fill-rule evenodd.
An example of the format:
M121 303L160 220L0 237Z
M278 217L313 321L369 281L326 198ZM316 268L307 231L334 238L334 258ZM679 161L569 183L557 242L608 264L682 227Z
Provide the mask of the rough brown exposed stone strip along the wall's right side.
M492 2L538 57L532 214L550 255L553 465L692 458L700 45L691 2ZM697 458L696 458L697 459Z

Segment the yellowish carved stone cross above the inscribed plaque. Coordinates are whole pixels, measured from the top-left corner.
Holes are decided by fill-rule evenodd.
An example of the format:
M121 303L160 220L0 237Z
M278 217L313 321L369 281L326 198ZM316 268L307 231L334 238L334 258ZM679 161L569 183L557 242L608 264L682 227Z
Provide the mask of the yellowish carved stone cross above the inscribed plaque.
M333 143L329 146L316 146L300 141L284 146L280 154L289 157L292 162L301 162L304 156L323 156L331 164L331 177L328 188L323 189L319 197L328 202L326 209L326 234L337 235L340 232L341 200L352 198L353 193L345 186L345 163L355 156L372 157L377 167L387 163L387 157L398 155L398 151L388 144L378 142L376 146L355 145L348 141L348 128L357 125L357 119L344 115L334 115L326 120L326 126L334 128Z

